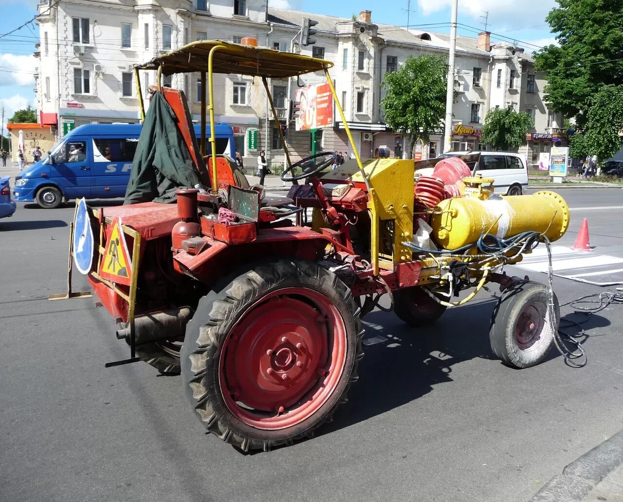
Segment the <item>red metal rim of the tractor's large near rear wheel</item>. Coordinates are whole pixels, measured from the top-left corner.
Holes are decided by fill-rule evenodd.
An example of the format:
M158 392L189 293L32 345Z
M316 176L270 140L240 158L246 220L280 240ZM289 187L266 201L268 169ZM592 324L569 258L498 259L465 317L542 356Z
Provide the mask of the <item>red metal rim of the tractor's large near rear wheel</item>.
M219 359L227 407L257 429L292 427L320 409L346 363L346 326L325 295L272 291L234 324Z

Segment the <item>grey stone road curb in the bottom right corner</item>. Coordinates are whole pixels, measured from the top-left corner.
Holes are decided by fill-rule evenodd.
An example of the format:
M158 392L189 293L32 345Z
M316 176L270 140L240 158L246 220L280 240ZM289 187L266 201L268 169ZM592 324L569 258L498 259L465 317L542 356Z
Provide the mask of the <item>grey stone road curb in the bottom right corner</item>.
M567 465L530 502L578 502L622 463L623 430L620 430Z

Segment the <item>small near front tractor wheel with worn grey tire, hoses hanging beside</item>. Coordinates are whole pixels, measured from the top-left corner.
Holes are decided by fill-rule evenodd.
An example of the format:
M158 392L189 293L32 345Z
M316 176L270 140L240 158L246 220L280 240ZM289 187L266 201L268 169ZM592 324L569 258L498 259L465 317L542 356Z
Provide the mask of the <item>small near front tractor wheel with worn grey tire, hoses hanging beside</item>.
M521 283L498 300L493 311L489 339L493 353L508 366L525 368L542 362L554 343L549 320L548 287L537 282ZM554 329L560 322L554 293Z

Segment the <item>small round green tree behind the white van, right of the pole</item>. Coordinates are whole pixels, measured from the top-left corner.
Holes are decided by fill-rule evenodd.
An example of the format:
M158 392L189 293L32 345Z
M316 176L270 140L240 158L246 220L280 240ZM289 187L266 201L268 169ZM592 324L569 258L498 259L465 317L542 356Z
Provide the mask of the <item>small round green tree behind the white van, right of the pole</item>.
M511 150L526 144L526 133L535 123L526 111L511 108L489 110L482 126L480 143L490 144L495 150Z

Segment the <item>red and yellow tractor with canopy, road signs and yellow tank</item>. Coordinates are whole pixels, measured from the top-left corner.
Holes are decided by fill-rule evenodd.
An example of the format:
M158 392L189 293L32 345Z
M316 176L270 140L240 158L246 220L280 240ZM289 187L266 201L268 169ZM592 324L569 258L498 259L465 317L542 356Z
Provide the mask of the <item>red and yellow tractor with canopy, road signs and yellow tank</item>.
M358 378L361 318L382 296L417 328L500 283L492 348L515 367L542 361L558 324L548 287L496 272L564 234L558 195L493 196L491 182L465 178L457 159L416 182L413 161L362 162L351 144L356 158L330 171L335 153L290 163L286 151L282 179L305 184L267 196L214 143L207 148L205 132L196 144L183 93L159 87L161 73L202 72L205 81L207 70L213 103L214 72L259 77L267 92L268 78L324 72L350 138L331 66L210 40L141 65L158 71L158 86L126 201L145 202L81 201L72 225L70 256L131 350L107 366L181 372L207 430L242 450L290 444L330 419ZM213 126L211 104L202 105Z

